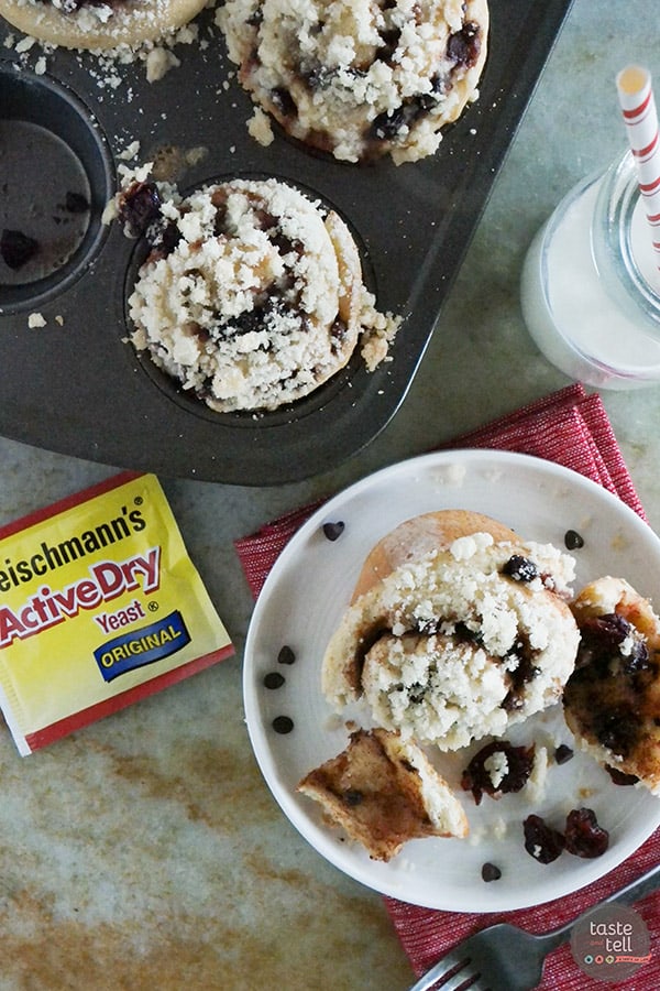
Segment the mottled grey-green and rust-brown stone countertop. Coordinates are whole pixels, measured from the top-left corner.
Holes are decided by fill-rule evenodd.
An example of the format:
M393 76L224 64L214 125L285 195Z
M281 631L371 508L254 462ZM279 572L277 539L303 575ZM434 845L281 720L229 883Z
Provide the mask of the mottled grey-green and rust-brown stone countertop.
M631 61L660 79L657 0L575 0L420 371L366 450L277 489L163 479L237 655L30 758L0 732L2 991L409 985L381 897L298 836L256 767L232 541L568 383L527 336L520 266L564 192L622 150L614 76ZM602 396L660 530L660 386ZM3 439L0 464L2 523L114 471Z

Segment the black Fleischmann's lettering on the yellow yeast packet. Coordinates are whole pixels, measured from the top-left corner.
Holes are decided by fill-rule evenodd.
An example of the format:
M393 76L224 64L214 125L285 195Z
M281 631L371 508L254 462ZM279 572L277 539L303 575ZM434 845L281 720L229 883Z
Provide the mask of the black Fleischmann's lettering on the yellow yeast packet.
M34 579L44 578L50 571L63 568L89 554L97 554L118 541L123 541L133 533L140 533L146 526L146 520L140 509L122 505L121 514L112 520L105 520L96 526L74 534L58 543L42 541L34 553L21 560L4 558L0 569L0 591L11 591Z

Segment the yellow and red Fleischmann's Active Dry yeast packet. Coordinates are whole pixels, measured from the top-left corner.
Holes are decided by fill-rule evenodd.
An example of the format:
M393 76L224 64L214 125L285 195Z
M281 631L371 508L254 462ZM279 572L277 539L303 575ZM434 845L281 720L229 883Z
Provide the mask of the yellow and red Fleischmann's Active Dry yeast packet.
M21 754L233 652L155 476L0 529L0 707Z

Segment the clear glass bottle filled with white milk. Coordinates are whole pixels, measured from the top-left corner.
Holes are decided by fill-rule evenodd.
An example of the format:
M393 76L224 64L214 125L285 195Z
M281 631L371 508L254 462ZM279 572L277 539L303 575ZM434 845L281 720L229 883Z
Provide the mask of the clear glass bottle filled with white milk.
M605 389L660 383L660 273L631 152L559 204L527 253L520 302L566 375Z

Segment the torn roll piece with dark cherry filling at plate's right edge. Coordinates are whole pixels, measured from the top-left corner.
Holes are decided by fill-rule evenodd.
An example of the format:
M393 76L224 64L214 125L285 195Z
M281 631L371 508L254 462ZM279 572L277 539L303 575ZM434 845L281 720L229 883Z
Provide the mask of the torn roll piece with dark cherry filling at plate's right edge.
M660 794L660 618L610 576L590 582L571 608L581 640L566 723L601 764Z

